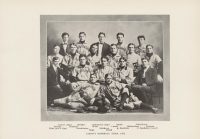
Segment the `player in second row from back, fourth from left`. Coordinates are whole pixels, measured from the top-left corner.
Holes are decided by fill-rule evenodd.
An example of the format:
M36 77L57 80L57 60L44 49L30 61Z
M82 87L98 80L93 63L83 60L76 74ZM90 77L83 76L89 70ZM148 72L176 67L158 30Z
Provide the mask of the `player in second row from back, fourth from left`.
M116 69L118 68L119 65L119 59L121 58L117 45L116 44L111 44L110 45L110 54L107 55L109 61L109 65L113 68Z

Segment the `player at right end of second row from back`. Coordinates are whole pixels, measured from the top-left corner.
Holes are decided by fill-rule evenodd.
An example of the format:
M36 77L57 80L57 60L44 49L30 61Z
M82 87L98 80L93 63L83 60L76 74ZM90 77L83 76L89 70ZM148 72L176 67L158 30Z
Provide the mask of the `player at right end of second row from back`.
M163 63L161 58L153 52L153 45L146 46L146 58L149 60L149 65L155 68L158 73L158 82L163 82Z

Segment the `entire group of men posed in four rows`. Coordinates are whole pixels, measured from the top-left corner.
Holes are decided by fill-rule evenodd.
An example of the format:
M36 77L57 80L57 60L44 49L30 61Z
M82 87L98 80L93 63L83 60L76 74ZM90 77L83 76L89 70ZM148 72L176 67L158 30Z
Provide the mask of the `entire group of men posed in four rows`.
M138 36L139 45L124 44L124 34L116 35L117 43L99 42L88 45L86 33L79 42L69 44L69 34L61 35L47 58L47 105L62 106L78 112L109 112L112 109L145 108L156 113L152 94L162 83L162 60L153 45Z

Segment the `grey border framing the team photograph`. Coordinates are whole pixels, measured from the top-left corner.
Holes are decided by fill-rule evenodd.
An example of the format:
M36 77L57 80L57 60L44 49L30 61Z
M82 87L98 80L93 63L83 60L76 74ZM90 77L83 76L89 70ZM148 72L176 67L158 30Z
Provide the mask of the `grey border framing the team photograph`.
M159 21L163 26L163 112L66 114L47 111L47 22L48 21ZM42 121L169 121L170 120L170 15L40 15L40 77Z

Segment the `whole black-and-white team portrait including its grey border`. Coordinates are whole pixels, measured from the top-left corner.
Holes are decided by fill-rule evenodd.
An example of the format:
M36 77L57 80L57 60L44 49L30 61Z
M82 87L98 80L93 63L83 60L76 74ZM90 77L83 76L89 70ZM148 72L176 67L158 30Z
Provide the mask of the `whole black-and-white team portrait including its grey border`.
M169 24L169 15L41 15L41 120L170 120Z

